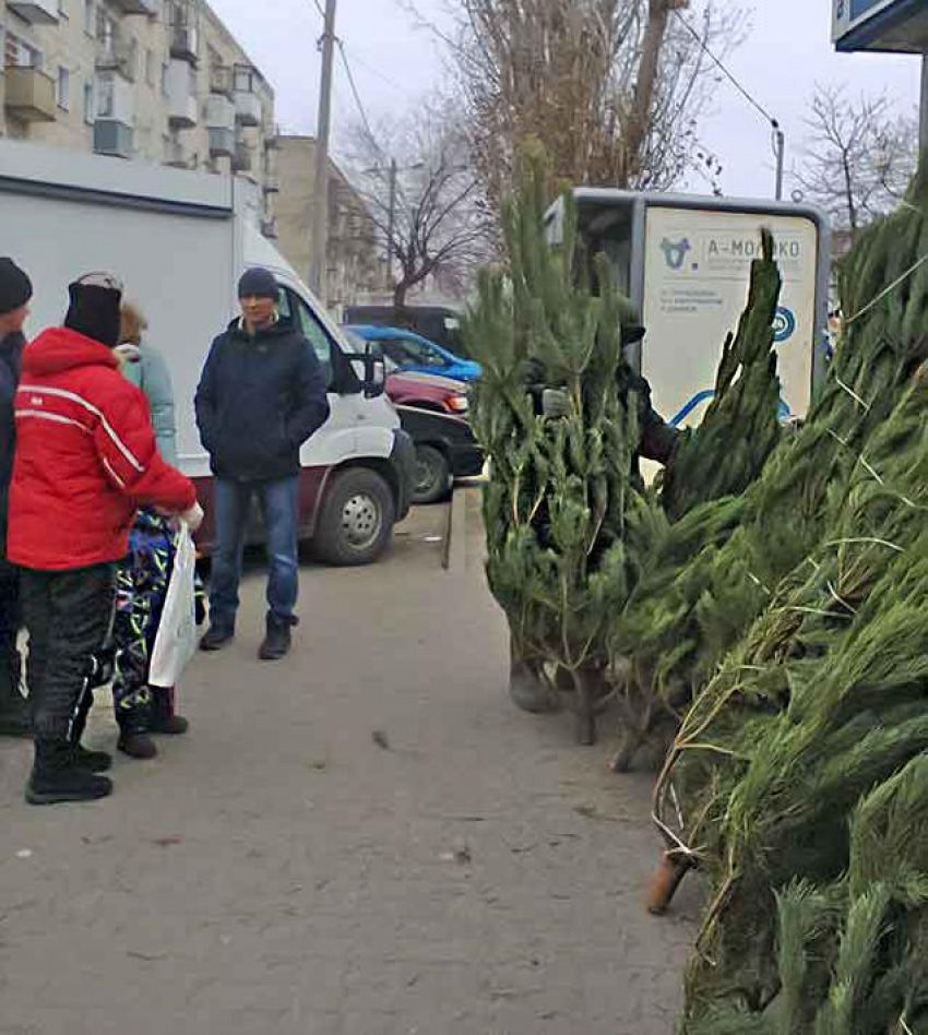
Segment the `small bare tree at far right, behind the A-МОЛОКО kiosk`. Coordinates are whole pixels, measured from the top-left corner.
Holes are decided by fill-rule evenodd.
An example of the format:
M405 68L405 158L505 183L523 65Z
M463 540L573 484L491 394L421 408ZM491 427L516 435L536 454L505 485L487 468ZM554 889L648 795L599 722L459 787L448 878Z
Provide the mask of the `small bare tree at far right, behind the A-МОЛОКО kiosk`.
M899 204L918 163L918 128L889 97L848 99L842 86L819 86L794 179L852 237Z

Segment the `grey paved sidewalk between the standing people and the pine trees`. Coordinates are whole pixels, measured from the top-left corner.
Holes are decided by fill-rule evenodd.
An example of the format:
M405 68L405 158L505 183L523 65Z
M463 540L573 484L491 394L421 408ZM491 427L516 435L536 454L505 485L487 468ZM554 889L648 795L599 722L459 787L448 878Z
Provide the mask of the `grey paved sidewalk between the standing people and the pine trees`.
M512 707L464 510L449 572L440 509L308 566L276 665L252 574L189 737L105 802L27 808L0 741L0 1035L671 1035L692 905L642 908L650 778Z

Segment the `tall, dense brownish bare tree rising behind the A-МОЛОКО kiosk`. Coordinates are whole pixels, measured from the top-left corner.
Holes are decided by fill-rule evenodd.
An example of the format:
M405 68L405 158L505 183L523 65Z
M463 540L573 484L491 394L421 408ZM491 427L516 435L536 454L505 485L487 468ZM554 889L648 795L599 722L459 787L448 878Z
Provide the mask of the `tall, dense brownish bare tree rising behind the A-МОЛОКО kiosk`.
M416 0L406 3L415 11ZM655 189L679 180L698 160L698 119L716 75L707 51L727 52L743 24L729 0L705 0L702 16L683 22L689 7L445 0L451 27L439 34L488 197L507 193L531 139L556 180Z

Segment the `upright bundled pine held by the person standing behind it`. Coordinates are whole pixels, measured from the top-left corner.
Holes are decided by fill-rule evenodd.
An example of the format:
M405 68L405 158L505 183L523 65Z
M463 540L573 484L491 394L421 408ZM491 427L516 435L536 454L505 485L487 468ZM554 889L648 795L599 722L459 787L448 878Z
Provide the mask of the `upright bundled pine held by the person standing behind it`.
M463 330L484 367L472 420L490 466L487 573L509 619L511 691L534 710L566 698L592 742L610 616L638 581L655 513L635 474L627 307L605 261L595 292L583 282L569 193L560 246L545 240L545 182L535 159L504 210L508 269L483 272Z

